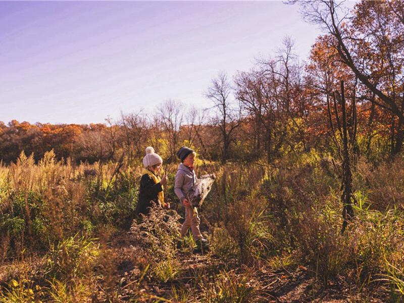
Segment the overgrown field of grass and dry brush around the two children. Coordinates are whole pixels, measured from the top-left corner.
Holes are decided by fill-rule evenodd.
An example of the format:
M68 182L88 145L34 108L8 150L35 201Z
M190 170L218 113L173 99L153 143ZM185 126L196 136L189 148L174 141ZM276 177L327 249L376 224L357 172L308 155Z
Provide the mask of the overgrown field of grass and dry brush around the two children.
M200 162L200 161L199 161ZM401 302L403 160L352 169L341 234L340 164L199 163L215 173L199 213L211 243L179 241L183 209L134 218L140 166L21 154L0 167L0 302Z

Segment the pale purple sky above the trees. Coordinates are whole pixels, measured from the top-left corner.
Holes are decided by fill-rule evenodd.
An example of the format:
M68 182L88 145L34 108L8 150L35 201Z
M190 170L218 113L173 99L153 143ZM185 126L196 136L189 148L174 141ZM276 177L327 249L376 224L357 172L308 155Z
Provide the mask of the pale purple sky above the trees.
M280 1L0 1L0 121L104 123L167 99L208 108L212 78L320 30Z

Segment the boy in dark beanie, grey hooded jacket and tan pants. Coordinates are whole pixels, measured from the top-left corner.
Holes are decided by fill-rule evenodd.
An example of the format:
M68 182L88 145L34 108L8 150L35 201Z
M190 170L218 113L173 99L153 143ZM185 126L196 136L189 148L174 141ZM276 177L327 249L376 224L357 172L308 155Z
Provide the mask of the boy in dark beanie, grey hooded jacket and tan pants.
M178 171L175 175L174 191L180 199L181 205L185 207L185 221L181 227L181 237L183 238L186 235L190 227L193 238L197 245L197 249L208 249L208 241L204 239L199 230L200 219L197 209L193 209L187 199L189 189L197 180L193 170L193 163L195 162L196 153L193 149L182 146L177 151L177 156L181 160L181 163L178 166Z

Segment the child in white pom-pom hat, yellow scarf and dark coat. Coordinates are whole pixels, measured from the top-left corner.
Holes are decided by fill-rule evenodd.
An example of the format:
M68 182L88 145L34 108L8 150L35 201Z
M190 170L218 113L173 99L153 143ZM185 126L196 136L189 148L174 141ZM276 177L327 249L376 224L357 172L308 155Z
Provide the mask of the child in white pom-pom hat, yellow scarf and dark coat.
M170 208L170 204L164 202L164 185L167 183L167 175L164 175L161 179L158 175L162 164L163 159L155 153L153 147L148 146L146 148L146 156L143 158L144 169L140 179L136 215L147 215L152 201L162 208Z

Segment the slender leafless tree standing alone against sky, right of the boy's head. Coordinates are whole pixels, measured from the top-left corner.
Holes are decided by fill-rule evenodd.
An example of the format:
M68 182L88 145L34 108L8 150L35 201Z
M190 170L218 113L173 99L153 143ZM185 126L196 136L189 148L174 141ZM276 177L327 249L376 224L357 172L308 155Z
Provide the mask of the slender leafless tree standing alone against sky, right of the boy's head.
M230 143L234 140L233 131L241 124L241 110L238 103L231 98L232 87L224 72L212 79L211 85L204 96L210 99L214 106L213 123L219 128L222 137L222 163L228 160Z

